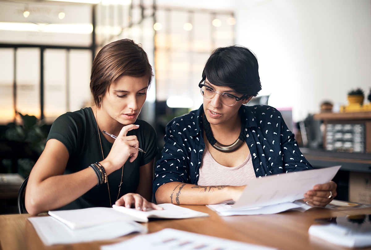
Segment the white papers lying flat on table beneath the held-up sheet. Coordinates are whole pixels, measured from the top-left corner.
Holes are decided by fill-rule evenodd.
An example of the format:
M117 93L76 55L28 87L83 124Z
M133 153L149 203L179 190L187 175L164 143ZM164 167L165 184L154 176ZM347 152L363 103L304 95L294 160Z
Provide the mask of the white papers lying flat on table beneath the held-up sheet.
M289 209L295 209L300 207L298 204L292 202L285 202L280 204L274 204L265 207L253 207L249 209L232 209L233 206L228 204L214 204L207 205L212 210L216 211L221 216L232 216L232 215L253 215L253 214L275 214L280 213Z

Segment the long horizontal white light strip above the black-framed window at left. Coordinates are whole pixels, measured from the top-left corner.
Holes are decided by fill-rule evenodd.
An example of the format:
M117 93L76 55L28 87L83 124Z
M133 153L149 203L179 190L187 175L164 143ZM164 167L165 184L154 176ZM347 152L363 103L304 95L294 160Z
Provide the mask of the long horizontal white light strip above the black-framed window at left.
M91 34L93 26L86 24L47 24L37 25L35 23L5 23L0 22L0 30L13 31L42 31L50 33L74 33L74 34Z

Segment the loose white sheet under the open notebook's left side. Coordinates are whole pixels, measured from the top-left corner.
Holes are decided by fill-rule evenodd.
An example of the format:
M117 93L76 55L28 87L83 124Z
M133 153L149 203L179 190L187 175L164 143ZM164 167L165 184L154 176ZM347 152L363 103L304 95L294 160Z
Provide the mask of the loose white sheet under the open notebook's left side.
M135 221L118 221L99 226L72 230L62 222L51 216L31 217L32 223L45 246L54 244L72 244L95 240L108 240L124 236L129 233L146 233L147 228Z

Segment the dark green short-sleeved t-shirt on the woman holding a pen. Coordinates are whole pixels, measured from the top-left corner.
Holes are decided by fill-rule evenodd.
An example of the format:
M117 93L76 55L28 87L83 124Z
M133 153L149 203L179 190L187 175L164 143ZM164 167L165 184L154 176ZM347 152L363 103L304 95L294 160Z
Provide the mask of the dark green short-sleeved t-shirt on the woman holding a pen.
M139 129L131 130L127 135L137 136L139 147L146 153L139 152L137 159L132 163L128 160L124 164L120 197L126 193L135 193L139 183L139 166L149 163L158 153L157 136L153 127L146 121L138 119L134 124L138 124ZM101 131L99 133L105 158L111 151L113 144L105 139ZM69 152L65 174L78 172L88 168L92 163L103 160L98 128L90 107L59 116L50 129L47 140L49 139L59 140ZM115 203L118 195L121 173L122 169L120 168L108 176L112 204ZM60 209L109 206L108 187L107 184L103 183L98 187L93 187L81 197Z

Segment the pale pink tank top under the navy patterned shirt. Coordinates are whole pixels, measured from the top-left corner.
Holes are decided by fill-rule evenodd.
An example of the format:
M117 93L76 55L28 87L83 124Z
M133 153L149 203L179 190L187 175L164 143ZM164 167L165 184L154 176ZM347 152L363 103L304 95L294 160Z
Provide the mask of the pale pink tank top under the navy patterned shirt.
M254 167L250 152L246 160L236 167L226 167L214 160L210 151L205 147L201 160L200 177L198 185L201 186L243 186L255 179Z

